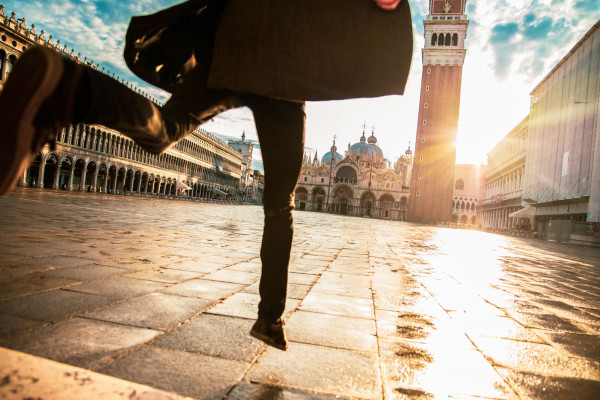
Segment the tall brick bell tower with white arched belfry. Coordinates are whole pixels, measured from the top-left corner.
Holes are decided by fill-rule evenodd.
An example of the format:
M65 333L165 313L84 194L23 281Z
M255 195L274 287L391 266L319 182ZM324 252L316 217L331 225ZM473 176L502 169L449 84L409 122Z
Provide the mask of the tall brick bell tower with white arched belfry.
M408 220L452 221L466 0L429 0Z

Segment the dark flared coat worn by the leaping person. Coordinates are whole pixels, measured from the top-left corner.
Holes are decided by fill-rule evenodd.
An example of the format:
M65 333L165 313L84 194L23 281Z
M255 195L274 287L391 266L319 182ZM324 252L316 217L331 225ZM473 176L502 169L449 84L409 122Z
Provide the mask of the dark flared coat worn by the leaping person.
M134 17L125 47L129 68L172 92L195 57L185 41L164 38L212 1ZM412 49L407 0L394 11L372 0L227 0L208 87L297 101L402 94Z

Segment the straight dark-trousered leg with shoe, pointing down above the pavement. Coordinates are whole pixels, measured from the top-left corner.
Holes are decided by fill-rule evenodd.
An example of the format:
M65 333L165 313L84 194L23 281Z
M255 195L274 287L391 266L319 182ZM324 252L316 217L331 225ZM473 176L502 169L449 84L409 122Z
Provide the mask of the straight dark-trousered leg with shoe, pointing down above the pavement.
M259 318L251 334L285 350L287 342L280 318L285 309L292 247L294 188L304 154L304 104L260 96L246 98L254 113L265 171L261 300Z

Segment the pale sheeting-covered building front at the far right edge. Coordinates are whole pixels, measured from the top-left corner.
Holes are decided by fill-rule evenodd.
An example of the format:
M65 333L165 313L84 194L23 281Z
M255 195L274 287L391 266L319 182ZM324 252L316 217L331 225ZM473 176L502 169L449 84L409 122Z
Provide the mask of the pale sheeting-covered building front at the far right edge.
M599 76L600 21L531 92L523 200L542 234L600 222Z

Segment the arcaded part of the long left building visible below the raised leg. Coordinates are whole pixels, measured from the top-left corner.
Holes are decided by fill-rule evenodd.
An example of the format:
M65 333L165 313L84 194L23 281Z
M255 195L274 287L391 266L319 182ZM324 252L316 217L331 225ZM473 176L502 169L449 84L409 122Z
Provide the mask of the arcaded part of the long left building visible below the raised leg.
M228 152L225 144L223 149L204 147L207 137L217 142L208 133L196 131L157 156L116 131L83 124L70 126L59 134L55 151L42 149L19 184L109 194L237 200L241 157L233 149ZM208 160L219 162L221 168L210 166ZM178 182L190 189L179 189Z

